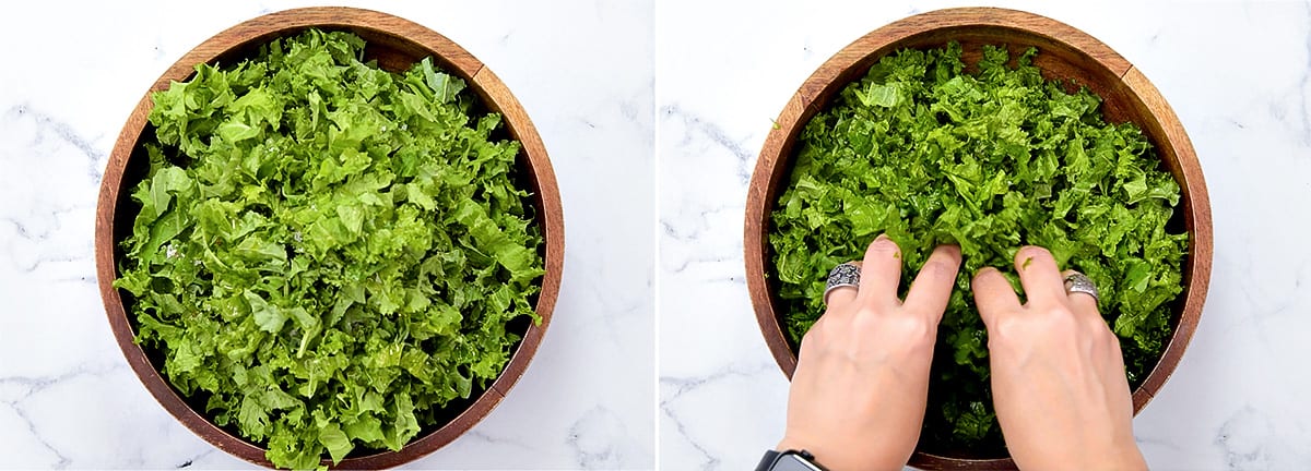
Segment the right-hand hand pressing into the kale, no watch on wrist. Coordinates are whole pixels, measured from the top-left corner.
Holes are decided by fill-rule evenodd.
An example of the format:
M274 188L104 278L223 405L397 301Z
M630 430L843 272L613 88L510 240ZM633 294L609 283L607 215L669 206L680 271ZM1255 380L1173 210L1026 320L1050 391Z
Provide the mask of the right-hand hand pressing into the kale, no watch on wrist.
M974 276L987 326L992 400L1020 468L1146 470L1120 340L1097 301L1066 293L1051 253L1023 247L1015 267L1028 302L995 268Z

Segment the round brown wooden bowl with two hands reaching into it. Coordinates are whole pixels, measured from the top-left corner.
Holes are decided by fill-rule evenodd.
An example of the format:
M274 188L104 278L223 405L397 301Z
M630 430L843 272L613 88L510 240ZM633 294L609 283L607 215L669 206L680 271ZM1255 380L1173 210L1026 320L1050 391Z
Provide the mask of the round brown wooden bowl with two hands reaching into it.
M1059 78L1088 86L1104 99L1103 111L1112 123L1133 122L1147 135L1162 162L1183 188L1184 225L1189 251L1184 262L1184 293L1173 304L1173 338L1160 362L1134 391L1134 413L1160 390L1175 370L1193 336L1211 273L1211 209L1206 182L1188 133L1156 88L1116 51L1088 34L1055 20L998 8L956 8L916 14L880 27L838 51L819 65L788 101L764 141L751 177L746 204L746 279L760 332L779 368L789 378L797 365L796 352L784 336L766 260L771 259L770 213L788 182L797 136L810 118L825 110L847 84L859 80L880 58L902 48L939 48L957 41L965 63L981 56L982 44L1008 44L1012 51L1034 46L1034 64L1047 80ZM1013 468L1011 459L968 459L915 453L911 466L936 470Z

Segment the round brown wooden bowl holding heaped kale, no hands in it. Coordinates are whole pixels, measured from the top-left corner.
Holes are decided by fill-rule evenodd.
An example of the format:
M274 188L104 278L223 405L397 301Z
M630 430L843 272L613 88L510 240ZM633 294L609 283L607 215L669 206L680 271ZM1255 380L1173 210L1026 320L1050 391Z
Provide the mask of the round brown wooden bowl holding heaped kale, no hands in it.
M146 389L155 395L155 399L191 432L210 444L241 459L271 467L273 464L265 459L262 447L214 425L198 410L190 407L160 375L161 362L157 361L159 358L152 358L148 352L132 343L135 335L132 321L128 319L123 297L114 289L113 283L118 276L117 260L122 256L118 241L131 233L132 215L135 215L127 198L128 191L125 190L130 190L140 182L144 173L144 156L135 154L135 152L138 140L143 136L143 131L147 131L147 116L152 106L149 93L166 89L170 81L187 80L193 75L195 64L233 64L239 59L250 56L260 44L270 39L292 35L311 26L324 30L346 30L362 37L368 43L364 51L366 58L376 59L383 69L401 72L422 58L431 56L446 72L463 78L469 89L481 98L484 109L502 115L507 136L522 144L518 157L520 184L527 186L532 194L531 204L538 217L536 224L545 239L545 275L541 279L541 292L538 294L535 306L538 315L541 317L541 323L538 326L526 321L510 323L509 330L518 332L522 340L514 347L506 369L492 386L482 391L475 390L467 400L447 404L443 410L446 421L425 429L401 450L370 455L353 454L337 464L343 468L392 467L414 461L451 442L477 424L505 398L532 360L532 355L551 322L551 311L560 293L560 275L564 263L564 213L545 147L543 147L541 137L538 136L528 115L505 84L459 44L418 24L379 12L354 8L305 8L271 13L243 22L197 46L155 81L155 85L127 119L127 124L123 126L118 143L110 154L96 211L96 270L100 277L100 292L119 348L123 349L127 362L136 372ZM122 215L122 217L115 217L115 215ZM330 462L325 459L324 464L330 464Z

